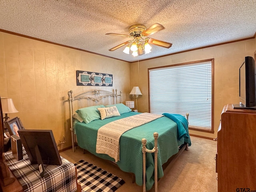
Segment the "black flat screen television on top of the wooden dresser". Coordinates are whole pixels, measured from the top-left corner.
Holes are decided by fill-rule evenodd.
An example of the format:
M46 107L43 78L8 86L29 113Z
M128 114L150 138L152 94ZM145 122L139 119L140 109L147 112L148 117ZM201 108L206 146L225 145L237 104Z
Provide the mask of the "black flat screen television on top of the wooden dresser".
M252 57L247 56L239 68L239 104L234 108L256 109L256 67Z

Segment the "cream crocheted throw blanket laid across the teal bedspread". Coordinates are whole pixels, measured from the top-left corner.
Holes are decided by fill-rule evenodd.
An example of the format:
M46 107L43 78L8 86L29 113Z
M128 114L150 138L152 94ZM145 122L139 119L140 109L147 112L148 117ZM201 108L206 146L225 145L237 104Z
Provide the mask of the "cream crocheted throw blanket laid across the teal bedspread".
M102 126L98 130L96 153L108 154L115 159L115 162L118 162L120 160L119 140L121 135L132 128L141 126L162 116L153 113L141 113L115 120Z

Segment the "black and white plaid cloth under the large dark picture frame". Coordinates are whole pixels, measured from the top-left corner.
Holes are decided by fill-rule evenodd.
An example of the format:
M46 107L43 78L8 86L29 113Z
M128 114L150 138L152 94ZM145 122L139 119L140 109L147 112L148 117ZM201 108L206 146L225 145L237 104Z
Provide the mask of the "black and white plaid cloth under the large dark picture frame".
M12 151L5 153L6 163L16 176L24 192L75 192L76 168L68 160L61 158L62 164L45 167L44 178L40 176L38 165L30 164L23 149L23 160L17 161Z

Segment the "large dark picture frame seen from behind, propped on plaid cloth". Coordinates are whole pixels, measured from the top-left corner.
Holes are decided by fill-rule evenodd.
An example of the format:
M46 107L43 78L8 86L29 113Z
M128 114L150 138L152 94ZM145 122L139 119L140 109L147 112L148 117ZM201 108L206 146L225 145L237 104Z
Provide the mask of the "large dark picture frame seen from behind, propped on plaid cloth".
M61 165L62 161L52 130L18 130L31 164L38 164L44 176L44 165Z

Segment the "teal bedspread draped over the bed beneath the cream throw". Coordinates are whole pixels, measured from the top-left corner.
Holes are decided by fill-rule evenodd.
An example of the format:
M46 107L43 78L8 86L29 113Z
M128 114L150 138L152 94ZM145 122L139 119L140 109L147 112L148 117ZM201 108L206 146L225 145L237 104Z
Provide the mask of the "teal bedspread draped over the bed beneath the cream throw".
M121 116L107 118L104 120L95 120L88 124L78 121L74 124L74 129L78 141L78 146L88 150L90 153L114 161L106 154L97 154L96 139L98 129L111 121L139 114L137 112L128 112ZM177 124L170 118L163 116L150 123L133 128L120 138L120 161L117 165L124 172L135 174L136 184L143 184L142 170L142 138L146 138L148 149L154 148L154 132L158 132L158 178L164 175L162 164L174 154L178 153L178 146L184 142L190 143L190 138L182 137L178 139ZM154 154L146 153L146 190L150 190L154 184Z

